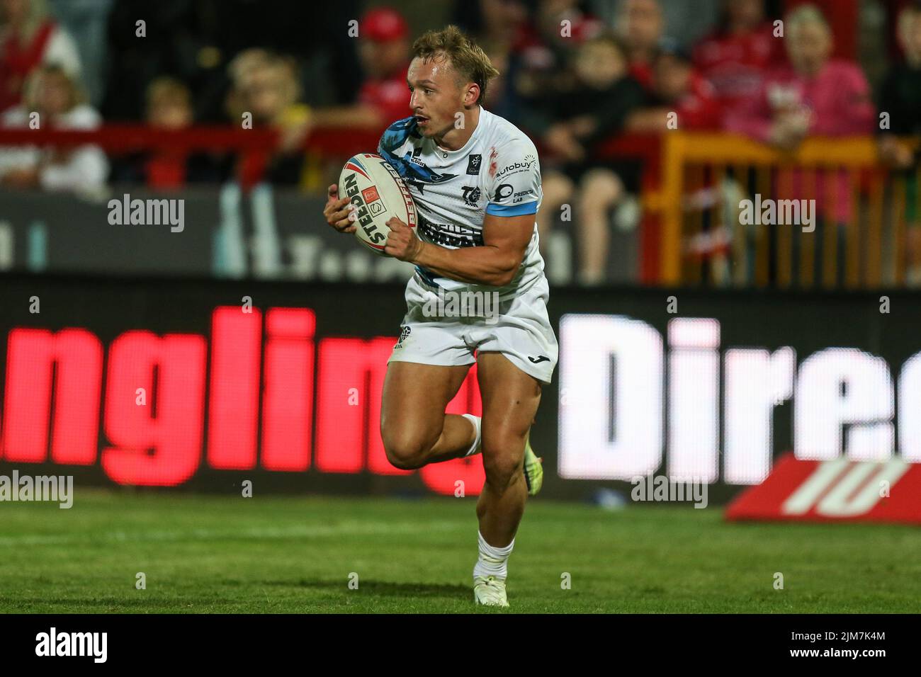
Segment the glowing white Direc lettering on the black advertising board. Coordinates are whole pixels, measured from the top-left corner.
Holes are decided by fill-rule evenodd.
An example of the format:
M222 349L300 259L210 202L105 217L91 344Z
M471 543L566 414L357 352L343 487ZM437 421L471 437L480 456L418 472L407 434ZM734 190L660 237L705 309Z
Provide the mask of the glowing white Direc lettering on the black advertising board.
M898 430L900 456L921 461L921 353L906 360L896 389L890 365L857 348L822 348L798 368L791 346L731 347L721 363L716 319L673 318L667 332L665 346L645 321L563 316L562 477L629 481L667 461L676 481L716 482L721 466L729 484L758 484L775 453L775 407L790 400L799 459L884 461Z

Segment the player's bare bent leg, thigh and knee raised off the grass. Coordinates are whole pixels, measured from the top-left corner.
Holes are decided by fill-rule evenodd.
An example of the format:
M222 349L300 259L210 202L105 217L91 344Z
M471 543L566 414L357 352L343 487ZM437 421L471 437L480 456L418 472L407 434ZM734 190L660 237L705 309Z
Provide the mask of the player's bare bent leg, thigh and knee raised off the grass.
M445 414L469 369L391 361L384 379L380 436L392 465L413 470L472 449L476 429L471 420Z

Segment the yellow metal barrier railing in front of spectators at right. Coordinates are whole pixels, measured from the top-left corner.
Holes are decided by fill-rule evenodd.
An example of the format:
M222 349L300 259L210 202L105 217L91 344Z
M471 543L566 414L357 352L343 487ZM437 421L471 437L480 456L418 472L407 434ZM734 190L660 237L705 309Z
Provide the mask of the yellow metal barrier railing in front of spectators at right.
M921 228L921 171L881 167L873 138L811 138L784 152L676 132L663 134L661 154L659 190L644 203L660 216L662 283L703 283L707 269L724 285L903 284L908 217ZM790 200L815 207L810 228L820 228L744 217L743 201L773 201L779 214L797 206Z

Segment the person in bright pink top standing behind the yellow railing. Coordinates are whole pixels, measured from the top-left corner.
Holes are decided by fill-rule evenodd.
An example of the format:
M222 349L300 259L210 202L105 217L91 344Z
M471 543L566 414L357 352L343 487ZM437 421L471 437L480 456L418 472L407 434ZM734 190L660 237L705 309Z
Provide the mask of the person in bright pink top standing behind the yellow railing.
M794 150L809 135L871 134L876 110L870 100L867 78L857 64L830 58L833 36L822 13L815 6L799 6L785 23L790 65L769 74L761 91L729 116L728 131L785 150ZM763 195L762 199L815 199L819 228L807 236L816 239L815 251L821 262L822 222L831 220L841 227L836 239L840 280L844 272L843 227L851 217L847 175L843 170L815 173L814 193L811 193L804 170L780 170L775 173L774 194ZM829 186L829 181L834 181L834 186ZM834 191L832 202L828 200L830 188ZM798 240L794 238L794 244ZM793 263L794 266L799 263L796 251Z

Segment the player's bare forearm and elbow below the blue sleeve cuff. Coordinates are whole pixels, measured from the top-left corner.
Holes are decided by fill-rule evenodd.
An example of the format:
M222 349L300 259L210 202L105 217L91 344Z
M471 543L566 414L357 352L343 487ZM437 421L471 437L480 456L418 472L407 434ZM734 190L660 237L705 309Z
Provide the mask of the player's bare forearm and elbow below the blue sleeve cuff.
M483 220L483 246L449 250L418 239L398 218L384 251L452 280L472 285L506 286L515 277L534 233L534 214L496 216Z

